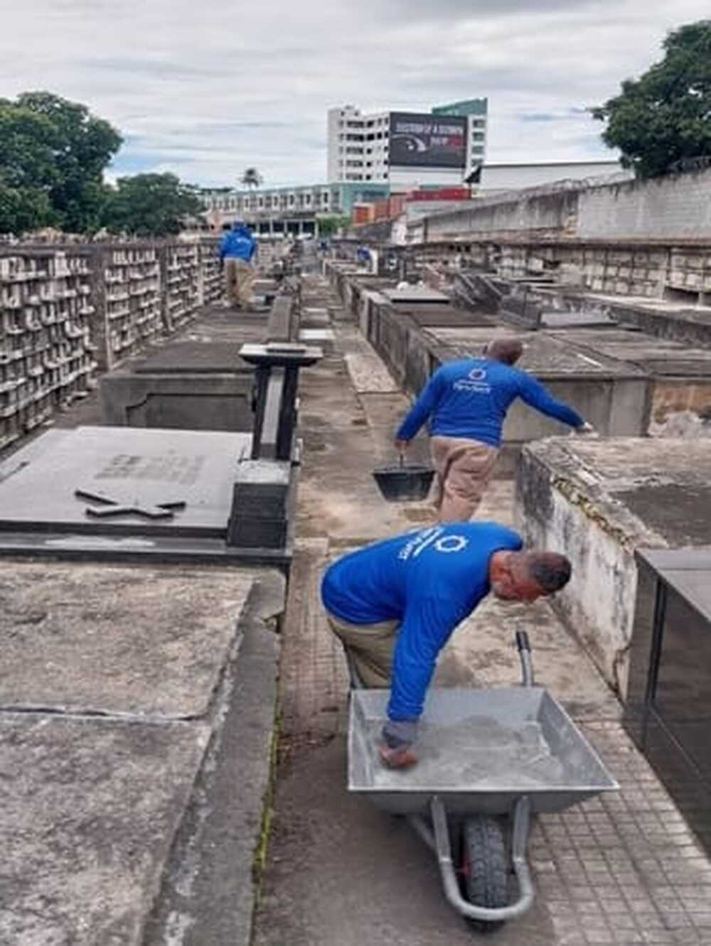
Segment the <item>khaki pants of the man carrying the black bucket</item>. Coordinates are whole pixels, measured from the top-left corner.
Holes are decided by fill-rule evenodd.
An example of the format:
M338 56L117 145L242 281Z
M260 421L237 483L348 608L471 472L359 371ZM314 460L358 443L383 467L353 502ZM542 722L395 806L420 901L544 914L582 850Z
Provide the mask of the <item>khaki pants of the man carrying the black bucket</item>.
M440 522L467 522L494 471L497 447L465 437L433 437L435 506Z

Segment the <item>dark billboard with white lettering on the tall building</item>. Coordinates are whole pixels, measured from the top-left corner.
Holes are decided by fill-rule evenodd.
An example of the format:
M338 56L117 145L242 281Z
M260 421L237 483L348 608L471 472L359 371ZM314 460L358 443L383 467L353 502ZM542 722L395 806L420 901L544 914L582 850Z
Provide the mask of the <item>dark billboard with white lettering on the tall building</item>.
M391 166L464 167L466 163L466 117L390 113Z

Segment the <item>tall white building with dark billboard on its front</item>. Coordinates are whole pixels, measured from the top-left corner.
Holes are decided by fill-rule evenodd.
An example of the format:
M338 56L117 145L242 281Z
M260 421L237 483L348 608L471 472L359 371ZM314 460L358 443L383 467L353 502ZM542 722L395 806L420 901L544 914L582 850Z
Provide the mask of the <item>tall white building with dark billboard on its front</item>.
M477 98L431 114L329 109L329 184L367 181L391 192L462 184L484 161L487 108Z

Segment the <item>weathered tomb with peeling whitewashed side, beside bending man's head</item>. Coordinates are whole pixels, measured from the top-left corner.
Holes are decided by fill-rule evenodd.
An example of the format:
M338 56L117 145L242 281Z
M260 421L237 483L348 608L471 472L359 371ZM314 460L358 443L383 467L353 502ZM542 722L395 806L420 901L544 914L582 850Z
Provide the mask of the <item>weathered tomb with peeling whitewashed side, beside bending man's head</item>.
M564 549L574 581L554 599L608 683L627 693L638 548L705 546L711 536L707 440L548 440L525 447L517 522L529 542Z

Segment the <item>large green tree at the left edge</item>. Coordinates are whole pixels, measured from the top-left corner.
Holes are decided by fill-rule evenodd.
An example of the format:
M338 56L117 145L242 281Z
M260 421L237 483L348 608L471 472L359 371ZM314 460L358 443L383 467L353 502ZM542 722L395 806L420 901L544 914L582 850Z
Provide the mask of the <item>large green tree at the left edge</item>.
M85 105L48 92L0 99L0 232L96 229L103 171L120 145Z

